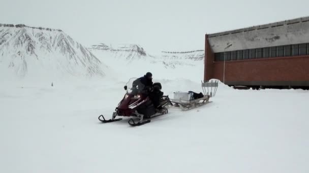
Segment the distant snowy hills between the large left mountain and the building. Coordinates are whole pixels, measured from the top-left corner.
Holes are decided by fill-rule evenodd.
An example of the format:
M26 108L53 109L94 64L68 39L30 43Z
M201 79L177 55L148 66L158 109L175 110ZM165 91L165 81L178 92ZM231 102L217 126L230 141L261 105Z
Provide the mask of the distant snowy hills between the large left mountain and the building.
M203 78L204 52L161 52L150 55L139 45L94 45L89 50L124 78L139 76L153 71L160 78L178 78L175 73L182 73L182 78ZM130 70L130 71L123 71Z

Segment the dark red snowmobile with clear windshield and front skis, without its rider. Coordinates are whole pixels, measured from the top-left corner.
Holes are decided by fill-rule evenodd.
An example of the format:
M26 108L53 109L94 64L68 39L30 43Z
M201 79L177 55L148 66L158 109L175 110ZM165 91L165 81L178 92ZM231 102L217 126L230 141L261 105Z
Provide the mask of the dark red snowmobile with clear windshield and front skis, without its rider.
M100 115L98 119L101 122L114 122L120 121L122 118L116 118L116 116L131 117L128 123L132 126L139 126L145 123L149 123L151 118L164 115L168 113L167 105L172 105L168 96L160 97L160 105L162 110L159 112L153 106L152 101L150 100L147 91L144 90L144 86L141 83L137 85L134 84L134 81L137 78L131 78L124 86L126 90L125 96L119 102L118 106L113 112L111 119L106 120L103 115ZM162 89L161 83L156 83L160 85L160 90ZM131 87L132 86L132 87ZM139 121L135 122L133 118L138 118Z

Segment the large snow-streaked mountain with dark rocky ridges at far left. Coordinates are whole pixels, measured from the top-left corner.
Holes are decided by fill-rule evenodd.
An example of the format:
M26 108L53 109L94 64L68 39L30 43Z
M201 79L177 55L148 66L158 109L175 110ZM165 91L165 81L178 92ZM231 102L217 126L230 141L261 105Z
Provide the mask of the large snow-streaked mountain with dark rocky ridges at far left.
M0 69L19 77L104 76L106 68L59 29L0 24Z

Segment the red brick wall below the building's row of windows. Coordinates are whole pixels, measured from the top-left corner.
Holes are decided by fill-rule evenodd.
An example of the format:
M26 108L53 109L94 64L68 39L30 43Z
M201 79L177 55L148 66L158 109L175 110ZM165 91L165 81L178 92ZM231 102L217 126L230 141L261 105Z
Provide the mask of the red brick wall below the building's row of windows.
M207 57L208 58L208 57ZM205 80L223 81L224 62L213 62ZM309 56L276 57L225 62L225 83L229 85L309 86Z

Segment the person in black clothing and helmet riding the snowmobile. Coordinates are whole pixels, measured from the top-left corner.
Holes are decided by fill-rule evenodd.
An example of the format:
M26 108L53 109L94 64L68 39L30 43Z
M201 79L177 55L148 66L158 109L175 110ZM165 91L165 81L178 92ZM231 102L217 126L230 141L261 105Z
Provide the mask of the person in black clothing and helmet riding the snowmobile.
M163 92L161 92L161 84L152 82L152 74L147 72L144 76L136 79L133 82L133 87L138 86L139 91L145 93L149 96L154 108L156 108L157 112L163 112L162 106L160 106L160 98L163 96Z

